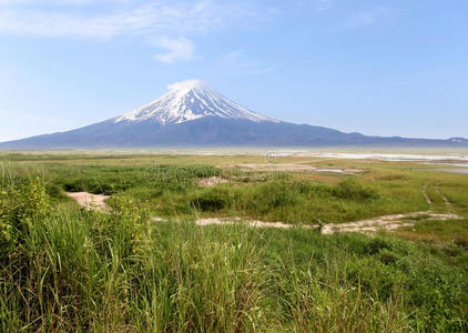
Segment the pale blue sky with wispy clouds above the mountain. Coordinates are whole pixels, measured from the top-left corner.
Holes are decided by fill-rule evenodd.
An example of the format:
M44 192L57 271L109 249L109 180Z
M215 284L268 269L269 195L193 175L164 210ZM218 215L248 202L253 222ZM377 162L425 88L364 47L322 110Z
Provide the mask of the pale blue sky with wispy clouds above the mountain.
M468 1L0 0L0 141L186 79L285 121L468 137Z

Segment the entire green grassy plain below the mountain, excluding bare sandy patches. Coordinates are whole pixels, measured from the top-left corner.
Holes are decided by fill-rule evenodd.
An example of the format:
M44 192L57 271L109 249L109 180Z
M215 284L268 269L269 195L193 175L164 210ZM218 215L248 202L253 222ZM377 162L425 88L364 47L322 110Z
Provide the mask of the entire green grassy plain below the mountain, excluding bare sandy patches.
M359 172L222 168L266 163L253 155L2 160L1 331L468 330L467 175L305 158L267 162ZM212 176L223 182L200 185ZM63 191L111 195L112 211L84 211ZM238 216L301 226L427 210L464 219L421 218L372 236L191 223Z

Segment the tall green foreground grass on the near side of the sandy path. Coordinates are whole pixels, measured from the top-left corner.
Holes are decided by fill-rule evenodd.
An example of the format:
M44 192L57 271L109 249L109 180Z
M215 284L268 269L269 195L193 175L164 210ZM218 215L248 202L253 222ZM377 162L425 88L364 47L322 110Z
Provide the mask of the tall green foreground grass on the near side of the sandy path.
M461 248L155 223L125 196L104 214L57 204L40 178L0 183L4 332L468 329Z

